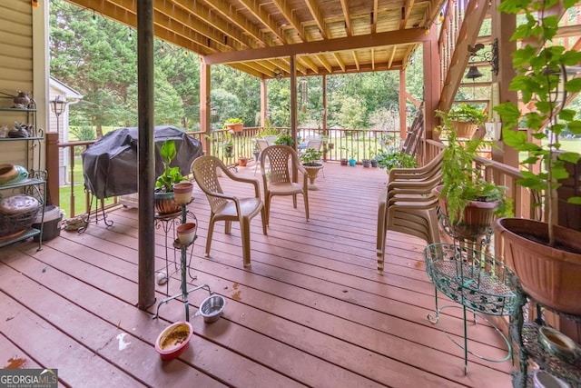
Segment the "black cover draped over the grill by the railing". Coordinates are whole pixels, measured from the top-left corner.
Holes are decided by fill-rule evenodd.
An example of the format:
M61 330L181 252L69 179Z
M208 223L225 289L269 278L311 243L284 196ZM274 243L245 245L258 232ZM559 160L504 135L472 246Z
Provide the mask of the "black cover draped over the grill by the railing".
M117 128L96 141L82 154L84 184L99 199L137 193L137 128ZM160 149L166 139L175 140L177 155L172 167L190 174L195 158L202 155L202 144L173 126L156 126L155 176L163 172Z

